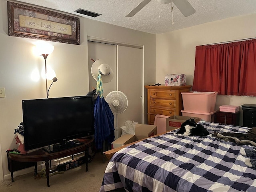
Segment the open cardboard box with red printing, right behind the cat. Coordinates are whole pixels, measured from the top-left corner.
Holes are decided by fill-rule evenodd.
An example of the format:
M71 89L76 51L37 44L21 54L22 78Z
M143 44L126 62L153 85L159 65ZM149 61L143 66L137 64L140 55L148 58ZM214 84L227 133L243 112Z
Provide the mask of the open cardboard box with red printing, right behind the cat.
M166 131L172 131L180 128L181 124L190 118L194 119L195 122L200 121L200 118L198 117L179 116L179 115L174 115L166 118Z

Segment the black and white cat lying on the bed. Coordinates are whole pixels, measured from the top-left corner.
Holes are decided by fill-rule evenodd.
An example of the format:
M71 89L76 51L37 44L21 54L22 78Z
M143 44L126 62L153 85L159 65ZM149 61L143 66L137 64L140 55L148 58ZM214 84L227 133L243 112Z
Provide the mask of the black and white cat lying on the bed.
M180 130L178 130L177 134L179 136L207 136L210 133L204 128L204 126L200 124L196 124L194 119L188 119L184 123L181 124Z

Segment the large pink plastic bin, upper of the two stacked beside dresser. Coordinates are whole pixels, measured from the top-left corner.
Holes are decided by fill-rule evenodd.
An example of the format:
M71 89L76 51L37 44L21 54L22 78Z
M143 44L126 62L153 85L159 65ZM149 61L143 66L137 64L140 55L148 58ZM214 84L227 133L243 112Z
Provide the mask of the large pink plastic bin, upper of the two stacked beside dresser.
M217 92L182 92L185 111L210 113L215 110Z

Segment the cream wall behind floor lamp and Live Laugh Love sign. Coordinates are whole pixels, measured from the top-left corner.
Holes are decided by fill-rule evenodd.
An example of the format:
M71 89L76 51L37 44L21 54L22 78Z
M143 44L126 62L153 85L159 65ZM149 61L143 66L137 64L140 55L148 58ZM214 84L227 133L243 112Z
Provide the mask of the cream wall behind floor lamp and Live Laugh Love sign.
M8 36L6 2L0 1L0 87L6 90L6 97L0 98L0 180L10 174L6 150L18 147L14 129L22 122L21 101L46 98L45 80L33 82L30 78L34 69L44 68L43 57L32 52L37 40ZM50 42L54 51L46 61L55 70L58 82L52 85L49 97L85 95L90 91L87 36L143 45L145 84L155 82L155 35L80 17L81 45Z

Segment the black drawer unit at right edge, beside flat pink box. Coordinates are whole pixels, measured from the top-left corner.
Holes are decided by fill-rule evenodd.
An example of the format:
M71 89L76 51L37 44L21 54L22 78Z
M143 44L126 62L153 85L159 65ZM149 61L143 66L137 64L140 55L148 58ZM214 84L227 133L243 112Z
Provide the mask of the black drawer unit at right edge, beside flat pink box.
M243 126L245 127L256 127L256 105L255 104L244 104L242 105L243 115Z

